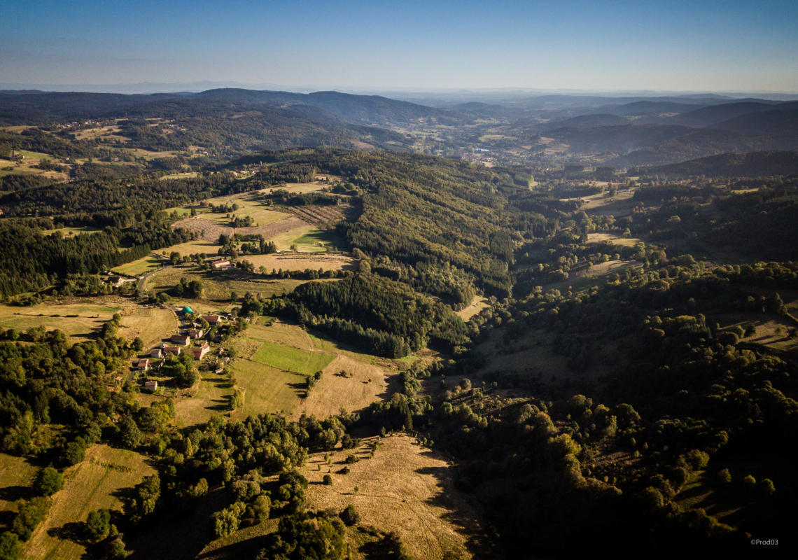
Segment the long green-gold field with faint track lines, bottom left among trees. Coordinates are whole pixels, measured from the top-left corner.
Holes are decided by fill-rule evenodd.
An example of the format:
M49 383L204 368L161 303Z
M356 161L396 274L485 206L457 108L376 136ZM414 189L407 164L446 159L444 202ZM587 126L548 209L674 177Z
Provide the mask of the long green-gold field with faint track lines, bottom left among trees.
M66 471L64 489L53 495L53 507L47 519L26 543L25 558L84 558L83 546L72 540L62 540L59 534L68 531L70 523L85 521L89 511L101 507L120 510L117 490L133 487L153 473L155 469L136 452L107 445L89 448L85 460Z

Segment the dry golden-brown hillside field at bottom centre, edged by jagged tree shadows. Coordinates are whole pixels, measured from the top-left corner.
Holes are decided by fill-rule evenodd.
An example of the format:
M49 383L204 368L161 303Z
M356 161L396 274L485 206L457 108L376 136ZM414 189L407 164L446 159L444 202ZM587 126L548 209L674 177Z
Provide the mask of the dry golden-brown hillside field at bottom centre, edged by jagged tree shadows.
M369 438L366 443L374 440ZM348 475L338 471L349 451L331 454L332 467L327 466L322 453L310 455L302 471L310 481L310 507L341 511L353 504L362 525L396 531L417 560L444 558L447 554L451 558L472 558L472 554L490 558L484 550L484 529L474 507L454 487L446 459L414 444L409 436L379 441L381 446L372 459L370 446L355 450L361 460L349 465ZM333 477L332 486L322 484L328 472Z

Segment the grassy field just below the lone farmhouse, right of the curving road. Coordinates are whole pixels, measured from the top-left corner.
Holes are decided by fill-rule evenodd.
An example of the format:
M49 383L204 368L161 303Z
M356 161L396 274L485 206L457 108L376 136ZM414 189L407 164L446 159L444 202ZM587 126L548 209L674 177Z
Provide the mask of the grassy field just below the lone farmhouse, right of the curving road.
M196 266L170 266L156 274L152 274L144 282L144 291L155 290L164 292L180 282L180 278L188 278L188 282L199 280L204 286L203 300L228 301L231 292L237 292L243 296L247 292L252 294L263 294L264 298L271 298L272 294L287 294L307 282L306 280L275 279L261 280L251 278L248 274L243 274L236 270L228 272L217 272L212 276L202 272ZM191 304L189 304L191 305Z

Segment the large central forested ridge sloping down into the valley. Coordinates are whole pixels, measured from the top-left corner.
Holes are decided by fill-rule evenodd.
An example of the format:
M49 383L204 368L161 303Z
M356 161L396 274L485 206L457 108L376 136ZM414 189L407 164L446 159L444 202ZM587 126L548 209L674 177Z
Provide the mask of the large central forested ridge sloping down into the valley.
M282 160L349 178L364 191L362 215L342 224L340 233L350 245L391 261L385 267L397 268L398 276L395 262L454 267L460 272L447 276L466 274L487 294L504 297L515 243L547 231L543 215L520 209L531 195L531 175L523 171L388 152L264 152L245 160ZM458 302L466 297L452 290Z

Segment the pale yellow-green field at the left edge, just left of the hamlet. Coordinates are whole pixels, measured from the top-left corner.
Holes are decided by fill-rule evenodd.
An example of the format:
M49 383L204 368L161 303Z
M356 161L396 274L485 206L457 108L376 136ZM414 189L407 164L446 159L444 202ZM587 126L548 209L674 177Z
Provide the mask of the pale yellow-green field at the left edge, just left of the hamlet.
M45 325L47 330L59 329L68 337L89 340L103 323L109 321L119 308L93 303L41 304L33 307L0 305L0 326L25 332L30 327ZM77 317L67 317L77 315Z

